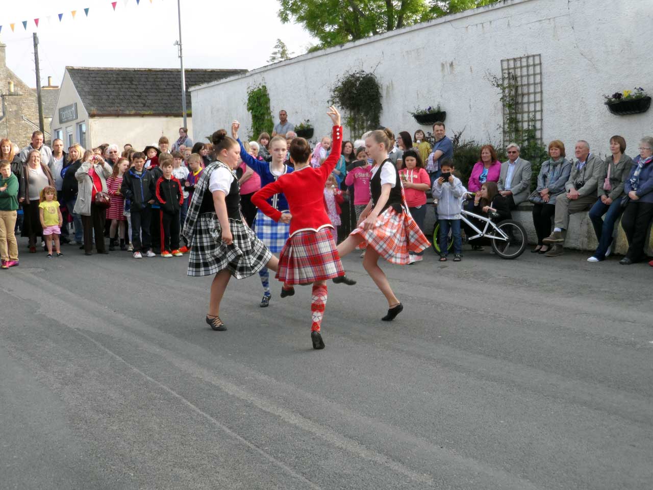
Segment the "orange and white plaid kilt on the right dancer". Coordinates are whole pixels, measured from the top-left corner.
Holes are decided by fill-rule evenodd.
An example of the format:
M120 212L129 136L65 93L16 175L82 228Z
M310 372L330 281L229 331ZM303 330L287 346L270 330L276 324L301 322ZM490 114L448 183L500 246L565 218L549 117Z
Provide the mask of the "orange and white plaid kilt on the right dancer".
M372 248L391 264L406 265L408 252L421 252L431 242L424 236L410 213L396 212L392 206L379 214L374 228L365 231L362 224L351 232L360 235L360 248Z

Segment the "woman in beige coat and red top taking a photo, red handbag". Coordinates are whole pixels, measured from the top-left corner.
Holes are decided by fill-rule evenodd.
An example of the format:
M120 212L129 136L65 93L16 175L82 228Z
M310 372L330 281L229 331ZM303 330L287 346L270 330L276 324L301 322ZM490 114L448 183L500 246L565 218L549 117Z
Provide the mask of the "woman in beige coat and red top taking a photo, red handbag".
M93 235L95 235L97 253L109 253L104 244L104 223L106 208L111 203L106 179L112 171L111 166L101 156L86 152L84 163L75 172L79 186L73 212L82 217L85 255L91 255L93 251Z

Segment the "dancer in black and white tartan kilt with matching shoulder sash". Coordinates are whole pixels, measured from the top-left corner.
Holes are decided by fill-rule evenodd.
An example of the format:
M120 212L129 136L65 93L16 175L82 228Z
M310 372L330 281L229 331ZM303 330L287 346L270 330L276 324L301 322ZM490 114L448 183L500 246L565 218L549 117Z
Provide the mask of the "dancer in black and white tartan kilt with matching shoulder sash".
M240 212L240 188L234 172L240 163L240 145L224 129L215 131L210 140L215 161L204 169L195 186L182 234L190 248L187 274L215 274L206 323L215 331L225 331L219 317L220 302L231 276L244 279L263 267L276 271L279 261ZM290 217L281 220L287 223Z

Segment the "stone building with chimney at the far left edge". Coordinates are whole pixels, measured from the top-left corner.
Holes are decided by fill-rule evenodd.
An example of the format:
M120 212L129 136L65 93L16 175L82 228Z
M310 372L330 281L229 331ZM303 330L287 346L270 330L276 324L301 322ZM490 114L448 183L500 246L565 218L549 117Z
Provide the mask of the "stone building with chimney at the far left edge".
M0 138L8 138L22 148L39 129L37 91L7 67L6 50L7 45L0 42ZM59 87L53 86L48 76L48 85L41 90L46 142L50 141L50 120L58 93Z

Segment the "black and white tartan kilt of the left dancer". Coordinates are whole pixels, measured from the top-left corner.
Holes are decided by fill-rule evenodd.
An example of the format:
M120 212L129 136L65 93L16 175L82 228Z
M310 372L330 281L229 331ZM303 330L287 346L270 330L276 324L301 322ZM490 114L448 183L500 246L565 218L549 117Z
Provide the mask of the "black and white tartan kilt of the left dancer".
M236 279L244 279L265 267L272 252L244 221L229 220L229 225L233 242L226 245L215 213L200 214L189 253L189 276L208 276L227 269Z

